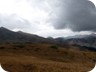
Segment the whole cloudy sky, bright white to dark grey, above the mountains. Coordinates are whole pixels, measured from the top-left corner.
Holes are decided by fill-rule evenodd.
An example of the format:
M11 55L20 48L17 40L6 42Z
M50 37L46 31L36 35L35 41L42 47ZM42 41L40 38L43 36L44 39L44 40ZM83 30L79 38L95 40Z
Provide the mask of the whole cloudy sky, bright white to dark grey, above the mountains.
M0 0L0 27L43 37L96 33L96 0Z

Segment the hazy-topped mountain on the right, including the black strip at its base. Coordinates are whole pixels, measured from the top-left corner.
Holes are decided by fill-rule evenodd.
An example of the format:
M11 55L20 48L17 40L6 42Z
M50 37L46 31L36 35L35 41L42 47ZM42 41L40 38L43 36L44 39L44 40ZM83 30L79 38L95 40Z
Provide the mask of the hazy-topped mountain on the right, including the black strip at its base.
M96 34L72 36L67 38L65 42L69 45L78 46L81 50L96 51Z

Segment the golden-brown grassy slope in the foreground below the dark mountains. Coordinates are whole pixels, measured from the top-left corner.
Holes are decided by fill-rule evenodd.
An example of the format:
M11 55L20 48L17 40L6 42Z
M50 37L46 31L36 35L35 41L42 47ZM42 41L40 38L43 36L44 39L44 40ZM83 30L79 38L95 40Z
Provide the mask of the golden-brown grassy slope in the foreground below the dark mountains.
M0 62L10 72L87 72L94 67L95 52L49 44L2 44Z

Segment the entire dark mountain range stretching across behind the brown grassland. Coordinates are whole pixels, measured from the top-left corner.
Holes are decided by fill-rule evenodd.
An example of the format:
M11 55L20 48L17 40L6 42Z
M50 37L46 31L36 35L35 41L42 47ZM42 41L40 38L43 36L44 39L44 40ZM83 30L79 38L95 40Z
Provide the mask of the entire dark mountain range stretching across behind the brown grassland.
M23 42L23 43L48 43L68 48L68 46L79 47L80 50L96 51L96 35L72 36L69 38L43 38L38 35L14 32L4 27L0 27L0 43L2 42Z

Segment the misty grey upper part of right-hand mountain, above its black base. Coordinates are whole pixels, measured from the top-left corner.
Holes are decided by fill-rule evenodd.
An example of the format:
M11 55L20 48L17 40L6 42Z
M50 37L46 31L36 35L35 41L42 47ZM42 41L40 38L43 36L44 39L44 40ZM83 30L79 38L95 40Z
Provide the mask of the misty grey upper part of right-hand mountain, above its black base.
M79 44L79 45L96 45L96 35L95 34L90 34L90 35L81 35L78 37L70 37L66 39L67 42L70 44Z

